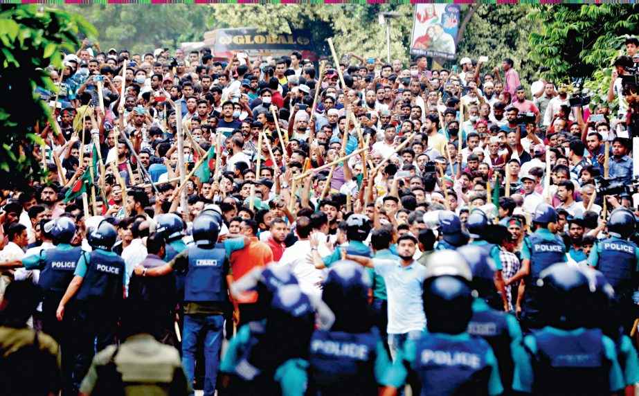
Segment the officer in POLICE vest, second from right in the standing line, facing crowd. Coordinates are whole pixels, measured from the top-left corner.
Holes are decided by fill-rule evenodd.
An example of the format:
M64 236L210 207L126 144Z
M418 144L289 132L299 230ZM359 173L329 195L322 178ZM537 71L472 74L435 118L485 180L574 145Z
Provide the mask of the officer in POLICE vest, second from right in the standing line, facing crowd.
M506 285L523 280L519 286L517 312L521 309L521 325L524 330L537 329L542 323L539 318L539 286L537 280L541 271L557 262L566 262L566 245L557 231L557 212L548 204L539 204L534 210L532 224L534 233L523 239L521 248L521 268ZM522 294L523 292L523 294ZM521 308L520 308L521 307Z

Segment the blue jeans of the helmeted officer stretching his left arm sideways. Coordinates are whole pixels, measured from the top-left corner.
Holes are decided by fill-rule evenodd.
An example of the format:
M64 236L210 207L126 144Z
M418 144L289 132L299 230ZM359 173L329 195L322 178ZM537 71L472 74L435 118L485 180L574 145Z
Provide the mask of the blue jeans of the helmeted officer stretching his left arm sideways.
M219 349L222 346L222 315L185 315L182 334L182 365L193 386L198 339L204 340L204 395L215 395Z

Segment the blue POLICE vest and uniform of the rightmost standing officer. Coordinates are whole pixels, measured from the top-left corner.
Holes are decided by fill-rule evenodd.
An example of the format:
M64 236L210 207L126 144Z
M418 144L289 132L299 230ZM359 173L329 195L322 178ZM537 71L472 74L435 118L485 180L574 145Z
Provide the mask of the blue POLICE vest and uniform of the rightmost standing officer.
M639 249L634 242L609 237L597 242L587 263L601 271L615 289L613 318L616 326L629 333L636 318L637 306L632 294L637 290L636 273L639 271Z

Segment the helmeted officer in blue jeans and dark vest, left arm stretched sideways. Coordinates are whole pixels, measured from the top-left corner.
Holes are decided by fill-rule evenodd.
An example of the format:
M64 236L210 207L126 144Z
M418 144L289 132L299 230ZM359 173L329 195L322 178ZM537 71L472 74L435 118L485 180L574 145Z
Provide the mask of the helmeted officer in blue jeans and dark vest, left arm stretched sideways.
M217 381L219 350L222 346L224 309L228 301L228 285L233 275L224 245L217 244L219 226L210 216L198 216L193 221L195 244L176 255L161 267L147 269L136 266L136 275L162 276L173 268L187 268L184 282L184 329L182 363L189 384L195 377L195 355L204 343L204 395L214 395ZM231 298L233 321L240 318L235 299Z

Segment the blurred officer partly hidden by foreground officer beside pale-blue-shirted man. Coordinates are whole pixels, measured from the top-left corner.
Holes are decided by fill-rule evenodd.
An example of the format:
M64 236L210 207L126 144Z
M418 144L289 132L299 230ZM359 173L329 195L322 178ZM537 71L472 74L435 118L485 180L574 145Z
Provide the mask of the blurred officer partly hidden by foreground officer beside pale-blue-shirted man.
M525 389L521 386L519 375L530 372L530 362L525 356L523 336L517 319L497 310L501 308L501 297L495 289L492 259L478 246L462 246L457 251L470 266L473 274L471 288L476 292L468 332L485 339L492 347L499 363L504 394L523 392ZM517 378L515 373L518 373Z

